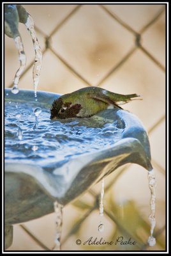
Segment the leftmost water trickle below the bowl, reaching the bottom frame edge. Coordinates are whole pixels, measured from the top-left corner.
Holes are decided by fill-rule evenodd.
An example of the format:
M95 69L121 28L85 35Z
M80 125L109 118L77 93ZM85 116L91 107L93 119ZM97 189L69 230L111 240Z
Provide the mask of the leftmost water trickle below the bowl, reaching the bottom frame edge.
M59 204L57 201L54 202L54 211L56 212L56 236L55 236L56 246L54 247L54 251L60 251L61 250L61 232L62 232L62 225L63 225L63 205Z

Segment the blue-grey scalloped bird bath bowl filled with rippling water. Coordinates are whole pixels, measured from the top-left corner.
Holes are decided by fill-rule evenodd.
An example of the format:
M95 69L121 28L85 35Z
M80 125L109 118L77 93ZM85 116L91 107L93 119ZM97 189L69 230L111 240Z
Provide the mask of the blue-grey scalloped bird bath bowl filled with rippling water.
M119 166L152 170L147 132L132 113L106 109L89 118L51 121L50 106L60 95L38 92L35 101L31 90L4 93L7 247L11 225L53 212L56 200L70 203Z

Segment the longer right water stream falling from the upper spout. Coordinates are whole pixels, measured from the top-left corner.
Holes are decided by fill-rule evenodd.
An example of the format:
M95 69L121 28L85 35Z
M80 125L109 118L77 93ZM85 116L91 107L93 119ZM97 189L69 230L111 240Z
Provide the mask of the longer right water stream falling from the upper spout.
M36 32L34 31L34 20L31 15L28 16L27 22L25 23L27 30L29 31L31 38L33 40L33 47L35 52L35 60L33 67L33 81L34 81L34 97L37 97L37 88L40 80L40 70L41 70L41 61L42 61L42 52Z

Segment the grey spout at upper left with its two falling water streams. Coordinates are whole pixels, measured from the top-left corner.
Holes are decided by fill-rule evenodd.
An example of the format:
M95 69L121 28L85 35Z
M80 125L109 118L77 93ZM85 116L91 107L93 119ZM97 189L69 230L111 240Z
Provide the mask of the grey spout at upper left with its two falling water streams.
M34 31L34 21L31 15L20 4L5 4L4 5L4 33L13 38L17 50L19 52L20 67L17 70L14 78L14 84L12 92L14 94L19 93L19 79L26 67L26 54L24 52L24 46L22 38L19 33L19 22L23 23L29 31L33 40L33 47L35 52L35 60L33 67L33 81L34 81L34 97L37 97L37 88L40 80L40 70L42 61L42 52L38 42L38 38ZM37 100L37 99L36 99Z

